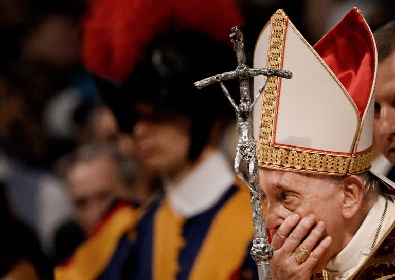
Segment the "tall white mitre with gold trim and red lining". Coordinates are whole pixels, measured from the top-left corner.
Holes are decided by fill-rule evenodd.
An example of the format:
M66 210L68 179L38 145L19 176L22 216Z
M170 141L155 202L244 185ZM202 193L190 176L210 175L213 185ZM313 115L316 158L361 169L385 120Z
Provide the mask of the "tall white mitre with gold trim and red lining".
M258 165L331 175L372 163L376 47L353 8L313 47L278 10L259 35L254 68L289 70L270 77L254 108ZM254 77L254 89L264 84Z

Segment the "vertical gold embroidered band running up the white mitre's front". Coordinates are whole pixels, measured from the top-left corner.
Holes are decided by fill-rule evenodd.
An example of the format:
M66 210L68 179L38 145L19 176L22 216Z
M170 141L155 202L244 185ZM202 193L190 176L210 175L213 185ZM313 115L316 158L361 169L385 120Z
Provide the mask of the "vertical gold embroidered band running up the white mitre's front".
M284 48L285 36L285 13L278 10L272 16L272 26L270 30L270 39L268 45L266 68L280 69L282 51ZM272 76L268 78L266 88L263 94L261 109L261 121L259 129L259 140L261 144L272 144L273 127L275 126L276 104L278 97L279 77Z

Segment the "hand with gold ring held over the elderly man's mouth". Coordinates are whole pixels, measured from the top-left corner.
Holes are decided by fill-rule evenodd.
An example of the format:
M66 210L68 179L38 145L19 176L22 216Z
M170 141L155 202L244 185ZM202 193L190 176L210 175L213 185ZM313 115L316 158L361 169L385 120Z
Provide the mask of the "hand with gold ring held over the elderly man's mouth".
M316 222L312 214L301 220L298 214L287 217L272 236L272 279L310 279L312 269L332 242L330 236L321 239L324 231L325 223ZM310 255L303 260L306 253L301 251L299 257L295 257L297 248Z

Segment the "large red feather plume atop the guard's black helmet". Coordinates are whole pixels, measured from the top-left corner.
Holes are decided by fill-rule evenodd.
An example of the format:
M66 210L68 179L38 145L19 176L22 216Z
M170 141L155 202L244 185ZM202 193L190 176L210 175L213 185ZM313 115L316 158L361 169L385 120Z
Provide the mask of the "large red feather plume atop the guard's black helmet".
M84 21L85 67L121 83L170 24L230 43L231 27L243 20L233 0L94 0Z

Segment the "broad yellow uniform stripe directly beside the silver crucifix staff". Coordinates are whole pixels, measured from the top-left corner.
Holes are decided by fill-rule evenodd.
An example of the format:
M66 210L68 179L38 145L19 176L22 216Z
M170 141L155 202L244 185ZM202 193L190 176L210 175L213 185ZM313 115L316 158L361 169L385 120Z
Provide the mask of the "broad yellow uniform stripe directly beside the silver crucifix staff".
M253 236L250 194L242 185L214 218L189 279L228 280L241 268Z

